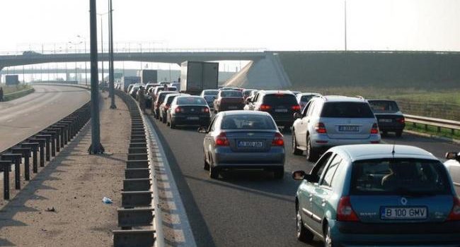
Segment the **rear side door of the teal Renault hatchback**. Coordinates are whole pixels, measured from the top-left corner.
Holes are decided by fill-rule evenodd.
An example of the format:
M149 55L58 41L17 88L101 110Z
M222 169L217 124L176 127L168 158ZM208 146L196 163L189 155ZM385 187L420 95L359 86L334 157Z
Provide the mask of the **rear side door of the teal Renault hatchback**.
M329 208L330 204L328 203L328 200L333 195L332 181L335 176L335 171L337 171L340 165L340 162L342 162L342 157L340 157L340 155L333 155L333 158L330 160L323 177L314 188L311 203L313 212L312 219L314 221L315 231L322 232L323 219L327 210L331 210Z

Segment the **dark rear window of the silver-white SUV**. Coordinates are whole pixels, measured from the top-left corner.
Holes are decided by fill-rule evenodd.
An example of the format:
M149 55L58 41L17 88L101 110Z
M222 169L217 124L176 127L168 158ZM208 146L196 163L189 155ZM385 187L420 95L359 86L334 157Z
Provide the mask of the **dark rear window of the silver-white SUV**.
M326 102L321 112L322 117L333 118L374 118L369 104L364 102Z

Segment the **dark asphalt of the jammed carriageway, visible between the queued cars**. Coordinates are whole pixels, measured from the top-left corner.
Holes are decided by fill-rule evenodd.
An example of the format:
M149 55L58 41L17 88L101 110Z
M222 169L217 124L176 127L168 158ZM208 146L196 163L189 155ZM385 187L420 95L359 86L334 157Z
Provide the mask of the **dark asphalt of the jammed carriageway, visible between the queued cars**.
M196 128L171 130L155 121L185 205L197 246L307 246L295 238L294 194L299 182L291 171L309 171L313 164L305 156L292 155L290 133L284 133L287 162L284 179L272 179L262 171L233 171L224 179L209 179L203 169L204 134ZM458 145L403 135L389 136L386 143L417 145L442 157ZM313 246L321 246L316 241Z

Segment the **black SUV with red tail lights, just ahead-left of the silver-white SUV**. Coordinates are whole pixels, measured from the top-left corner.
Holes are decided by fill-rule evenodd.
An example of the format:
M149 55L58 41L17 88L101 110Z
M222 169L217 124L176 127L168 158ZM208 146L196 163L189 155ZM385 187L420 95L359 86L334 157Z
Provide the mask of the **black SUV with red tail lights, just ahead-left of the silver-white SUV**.
M285 130L294 123L294 113L300 113L299 103L290 91L260 90L244 109L270 113Z

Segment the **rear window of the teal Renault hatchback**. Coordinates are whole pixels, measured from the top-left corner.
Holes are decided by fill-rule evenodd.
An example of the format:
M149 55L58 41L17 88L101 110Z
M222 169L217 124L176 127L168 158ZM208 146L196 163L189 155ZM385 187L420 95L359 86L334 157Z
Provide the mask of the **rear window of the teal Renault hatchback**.
M352 164L353 195L447 195L444 165L430 159L368 159Z

